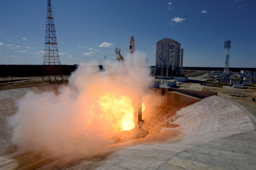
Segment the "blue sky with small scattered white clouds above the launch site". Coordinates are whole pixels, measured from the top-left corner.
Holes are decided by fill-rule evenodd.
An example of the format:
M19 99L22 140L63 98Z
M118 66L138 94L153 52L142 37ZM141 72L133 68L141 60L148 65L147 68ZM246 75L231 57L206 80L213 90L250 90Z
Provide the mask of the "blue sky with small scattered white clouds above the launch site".
M43 64L47 0L0 3L0 64ZM52 0L52 10L61 64L114 61L133 35L148 65L165 37L184 48L183 66L224 67L229 39L230 67L256 65L255 0Z

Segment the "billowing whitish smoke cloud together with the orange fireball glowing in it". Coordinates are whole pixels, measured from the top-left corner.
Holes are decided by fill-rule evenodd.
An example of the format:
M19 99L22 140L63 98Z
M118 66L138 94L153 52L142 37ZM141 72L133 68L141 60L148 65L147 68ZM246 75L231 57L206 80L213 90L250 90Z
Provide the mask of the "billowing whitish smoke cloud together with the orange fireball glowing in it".
M148 69L107 61L102 71L97 65L80 64L58 94L31 91L19 100L17 113L8 118L13 144L60 156L112 144L125 127L133 128L133 99L148 85Z

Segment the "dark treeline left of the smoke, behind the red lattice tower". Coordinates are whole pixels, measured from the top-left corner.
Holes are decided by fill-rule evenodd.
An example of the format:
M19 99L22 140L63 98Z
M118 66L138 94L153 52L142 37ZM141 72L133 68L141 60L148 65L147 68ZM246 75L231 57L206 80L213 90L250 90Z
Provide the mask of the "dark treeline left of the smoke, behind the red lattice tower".
M78 65L61 65L62 75L70 75ZM0 77L42 76L43 65L0 65Z

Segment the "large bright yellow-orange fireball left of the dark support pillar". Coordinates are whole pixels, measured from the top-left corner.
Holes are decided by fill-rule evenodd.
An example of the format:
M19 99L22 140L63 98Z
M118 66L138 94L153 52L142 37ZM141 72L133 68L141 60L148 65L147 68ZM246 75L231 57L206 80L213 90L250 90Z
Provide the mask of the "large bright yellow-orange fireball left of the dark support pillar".
M107 92L97 103L102 111L100 120L108 121L116 133L134 129L135 110L132 107L132 98Z

